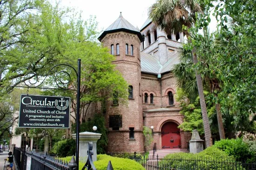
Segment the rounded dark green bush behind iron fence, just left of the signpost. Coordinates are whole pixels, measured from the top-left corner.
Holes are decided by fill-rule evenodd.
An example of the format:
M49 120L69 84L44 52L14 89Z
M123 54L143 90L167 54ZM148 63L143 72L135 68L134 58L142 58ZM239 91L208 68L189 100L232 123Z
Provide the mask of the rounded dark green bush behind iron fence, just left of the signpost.
M58 154L59 157L67 157L75 155L75 140L65 139L56 142L53 147L53 153Z

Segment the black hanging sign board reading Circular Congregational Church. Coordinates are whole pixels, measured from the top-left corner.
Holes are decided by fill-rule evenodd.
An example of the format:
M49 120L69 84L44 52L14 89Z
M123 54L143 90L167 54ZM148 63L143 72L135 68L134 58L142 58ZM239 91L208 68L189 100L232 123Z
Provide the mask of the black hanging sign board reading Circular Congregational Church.
M19 127L69 128L70 98L20 95Z

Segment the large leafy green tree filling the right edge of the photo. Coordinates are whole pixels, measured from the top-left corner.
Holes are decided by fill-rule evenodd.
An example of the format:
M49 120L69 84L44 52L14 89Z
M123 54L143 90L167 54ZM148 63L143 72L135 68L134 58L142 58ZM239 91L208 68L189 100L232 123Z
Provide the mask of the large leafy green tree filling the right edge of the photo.
M208 68L201 72L213 72L222 81L221 92L215 101L221 104L223 117L229 118L229 137L235 137L235 132L254 133L256 116L256 51L255 51L255 1L214 0L204 1L205 7L213 8L213 15L218 22L218 33L210 42L210 48L201 48L201 42L192 38L193 45L200 53L200 58L207 59ZM195 28L209 25L210 13L200 16ZM201 60L201 59L200 59ZM227 122L227 121L226 121ZM232 128L231 128L232 127Z

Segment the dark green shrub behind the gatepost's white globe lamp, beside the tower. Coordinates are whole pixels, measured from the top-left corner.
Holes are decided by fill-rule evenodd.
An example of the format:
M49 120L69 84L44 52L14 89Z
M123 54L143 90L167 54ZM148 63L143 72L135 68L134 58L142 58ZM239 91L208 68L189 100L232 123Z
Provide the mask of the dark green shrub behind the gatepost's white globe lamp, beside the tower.
M97 126L96 131L93 130L93 126ZM75 124L73 126L73 130L75 130ZM94 118L92 118L90 121L83 122L80 126L80 132L84 131L101 133L101 138L97 141L97 153L106 153L105 150L108 146L108 135L105 127L104 116L102 114L94 114Z

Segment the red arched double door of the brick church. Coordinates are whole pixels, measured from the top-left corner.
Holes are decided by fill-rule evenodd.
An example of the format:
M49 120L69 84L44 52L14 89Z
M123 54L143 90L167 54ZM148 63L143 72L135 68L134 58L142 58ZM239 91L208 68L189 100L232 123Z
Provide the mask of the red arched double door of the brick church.
M163 124L161 133L162 149L181 148L181 133L177 124L174 122Z

